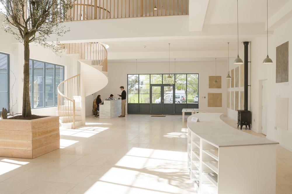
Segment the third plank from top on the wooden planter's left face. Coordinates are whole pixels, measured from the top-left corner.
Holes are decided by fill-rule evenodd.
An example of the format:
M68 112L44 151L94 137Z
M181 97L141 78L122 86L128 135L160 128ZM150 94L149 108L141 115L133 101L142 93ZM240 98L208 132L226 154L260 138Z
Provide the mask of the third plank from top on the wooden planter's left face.
M31 141L0 139L0 148L32 149Z

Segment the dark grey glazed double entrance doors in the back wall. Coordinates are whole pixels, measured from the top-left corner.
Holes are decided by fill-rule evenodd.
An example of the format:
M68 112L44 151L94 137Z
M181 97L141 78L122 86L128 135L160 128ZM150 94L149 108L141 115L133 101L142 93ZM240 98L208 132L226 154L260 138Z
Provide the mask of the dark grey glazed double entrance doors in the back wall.
M173 115L175 107L174 84L150 85L150 113Z

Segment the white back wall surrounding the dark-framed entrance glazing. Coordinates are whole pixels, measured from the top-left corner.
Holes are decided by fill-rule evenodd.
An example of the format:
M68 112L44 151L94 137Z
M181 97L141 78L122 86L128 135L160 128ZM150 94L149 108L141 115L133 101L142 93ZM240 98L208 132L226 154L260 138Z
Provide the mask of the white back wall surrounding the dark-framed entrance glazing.
M199 73L199 108L208 112L225 113L226 109L226 84L227 62L217 62L217 76L222 76L221 89L209 89L209 76L215 76L214 61L202 62L177 62L175 73ZM108 85L100 91L102 99L113 94L121 94L120 86L127 87L127 74L136 73L136 63L109 63L108 64ZM137 74L160 74L168 73L168 62L166 63L138 63ZM174 73L174 63L171 62L170 73ZM222 107L207 107L208 93L222 93ZM206 97L206 98L204 98ZM89 105L88 105L89 106Z

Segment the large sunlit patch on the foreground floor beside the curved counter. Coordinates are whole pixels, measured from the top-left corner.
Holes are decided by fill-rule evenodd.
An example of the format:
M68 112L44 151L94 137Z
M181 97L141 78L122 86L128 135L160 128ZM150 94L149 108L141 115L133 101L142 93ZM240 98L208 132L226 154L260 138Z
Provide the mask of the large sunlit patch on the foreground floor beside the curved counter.
M85 193L193 191L186 159L186 152L133 147Z

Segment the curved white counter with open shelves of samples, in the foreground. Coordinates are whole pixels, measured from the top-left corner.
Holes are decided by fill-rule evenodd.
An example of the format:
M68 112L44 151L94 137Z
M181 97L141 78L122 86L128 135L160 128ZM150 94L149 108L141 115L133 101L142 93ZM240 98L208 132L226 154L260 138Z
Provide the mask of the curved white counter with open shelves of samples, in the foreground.
M222 115L197 113L187 119L188 168L198 193L276 193L279 143L234 129Z

